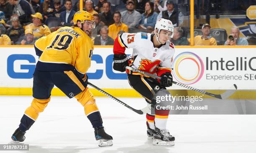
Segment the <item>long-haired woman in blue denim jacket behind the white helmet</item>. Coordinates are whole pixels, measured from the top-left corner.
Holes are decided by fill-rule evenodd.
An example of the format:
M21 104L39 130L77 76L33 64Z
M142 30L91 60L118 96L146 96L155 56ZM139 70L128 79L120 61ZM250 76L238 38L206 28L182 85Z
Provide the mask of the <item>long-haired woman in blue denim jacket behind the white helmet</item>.
M157 15L158 14L154 12L154 3L147 2L145 5L145 13L141 15L141 21L138 28L148 29L150 30L149 33L151 33L151 31L154 30Z

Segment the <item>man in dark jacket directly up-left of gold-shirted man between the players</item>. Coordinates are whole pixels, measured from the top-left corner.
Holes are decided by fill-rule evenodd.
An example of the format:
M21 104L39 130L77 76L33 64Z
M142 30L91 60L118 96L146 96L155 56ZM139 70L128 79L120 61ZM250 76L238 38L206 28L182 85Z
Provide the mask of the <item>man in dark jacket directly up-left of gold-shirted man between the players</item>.
M103 12L100 13L100 20L105 23L106 26L113 24L113 14L110 12L110 3L104 2L102 5Z

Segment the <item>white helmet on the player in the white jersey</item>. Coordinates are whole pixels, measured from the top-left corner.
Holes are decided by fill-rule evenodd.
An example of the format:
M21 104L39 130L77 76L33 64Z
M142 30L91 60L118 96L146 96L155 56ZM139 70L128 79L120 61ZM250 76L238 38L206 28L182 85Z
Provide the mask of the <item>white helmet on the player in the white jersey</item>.
M164 18L160 18L156 21L155 30L154 30L155 35L156 35L156 29L158 29L158 32L157 32L158 35L156 36L156 40L158 42L159 42L158 37L161 30L171 31L172 35L170 36L170 38L172 38L174 35L174 26L172 24L172 21L166 20Z

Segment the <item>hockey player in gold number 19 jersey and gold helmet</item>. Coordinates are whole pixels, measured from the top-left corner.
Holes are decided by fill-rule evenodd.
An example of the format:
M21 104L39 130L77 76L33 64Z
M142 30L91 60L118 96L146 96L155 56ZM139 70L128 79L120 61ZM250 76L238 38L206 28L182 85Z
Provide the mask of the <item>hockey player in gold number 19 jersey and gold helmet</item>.
M110 146L112 136L105 133L95 98L87 87L86 72L90 68L93 44L88 36L95 22L92 14L78 11L74 27L63 27L38 39L36 54L40 56L33 74L33 101L12 135L14 143L25 140L25 133L43 112L51 99L51 90L58 87L69 98L75 97L84 107L87 118L95 129L99 146Z

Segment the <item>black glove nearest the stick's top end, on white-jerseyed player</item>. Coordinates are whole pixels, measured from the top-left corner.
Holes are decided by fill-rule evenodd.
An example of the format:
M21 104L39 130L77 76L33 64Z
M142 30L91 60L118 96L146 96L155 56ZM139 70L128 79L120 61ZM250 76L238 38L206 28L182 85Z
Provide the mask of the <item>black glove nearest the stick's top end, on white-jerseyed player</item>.
M113 69L116 71L124 72L125 66L128 66L128 58L126 54L114 54Z

